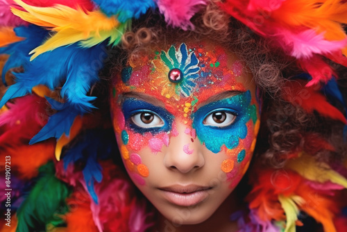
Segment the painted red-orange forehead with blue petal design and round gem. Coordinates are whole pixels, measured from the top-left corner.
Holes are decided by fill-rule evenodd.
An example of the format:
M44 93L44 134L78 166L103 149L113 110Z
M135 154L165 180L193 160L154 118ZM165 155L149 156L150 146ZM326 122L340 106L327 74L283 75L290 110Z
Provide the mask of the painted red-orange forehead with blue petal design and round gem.
M196 103L249 89L251 76L235 54L211 42L156 46L129 60L115 76L115 92L137 92L172 104Z

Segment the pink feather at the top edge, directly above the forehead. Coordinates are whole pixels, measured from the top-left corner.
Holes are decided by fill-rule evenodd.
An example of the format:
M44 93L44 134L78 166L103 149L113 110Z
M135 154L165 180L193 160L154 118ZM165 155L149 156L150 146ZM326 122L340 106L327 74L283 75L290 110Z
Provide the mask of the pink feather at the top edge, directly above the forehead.
M186 31L194 28L189 20L206 2L205 0L158 0L157 4L167 24Z

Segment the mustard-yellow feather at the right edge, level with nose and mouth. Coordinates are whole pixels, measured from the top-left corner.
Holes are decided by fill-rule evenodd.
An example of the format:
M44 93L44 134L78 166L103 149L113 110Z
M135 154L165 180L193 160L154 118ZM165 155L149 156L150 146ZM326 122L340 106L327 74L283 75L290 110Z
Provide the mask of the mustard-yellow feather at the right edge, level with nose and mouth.
M307 154L304 154L300 158L289 160L286 166L310 181L317 181L319 183L331 181L347 188L347 180L344 176L332 170L329 165L316 162L312 156Z

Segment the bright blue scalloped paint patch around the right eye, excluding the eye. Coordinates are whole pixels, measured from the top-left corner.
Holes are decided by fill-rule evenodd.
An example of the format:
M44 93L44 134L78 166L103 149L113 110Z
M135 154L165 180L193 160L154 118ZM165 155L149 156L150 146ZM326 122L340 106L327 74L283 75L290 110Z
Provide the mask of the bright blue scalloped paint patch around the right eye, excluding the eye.
M225 127L208 126L203 124L205 117L210 115L213 110L230 109L230 113L236 116L235 122ZM251 92L248 90L242 94L214 101L199 108L192 115L193 128L196 129L196 135L201 143L213 153L221 151L223 144L228 149L233 149L239 144L239 139L246 138L246 122L251 119L251 115L256 115L256 107L251 106Z

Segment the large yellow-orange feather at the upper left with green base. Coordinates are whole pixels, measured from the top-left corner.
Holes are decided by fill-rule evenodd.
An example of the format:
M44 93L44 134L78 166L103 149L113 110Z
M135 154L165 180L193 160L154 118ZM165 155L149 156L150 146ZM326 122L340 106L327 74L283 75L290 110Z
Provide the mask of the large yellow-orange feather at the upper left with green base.
M115 44L120 41L121 35L130 25L130 20L120 24L116 16L107 17L101 10L85 12L81 8L74 9L62 5L42 8L29 6L21 0L15 2L28 12L12 8L13 14L56 32L41 46L31 51L31 60L46 51L75 42L81 42L82 47L92 47L111 38L110 43Z

